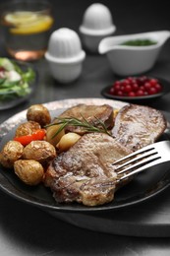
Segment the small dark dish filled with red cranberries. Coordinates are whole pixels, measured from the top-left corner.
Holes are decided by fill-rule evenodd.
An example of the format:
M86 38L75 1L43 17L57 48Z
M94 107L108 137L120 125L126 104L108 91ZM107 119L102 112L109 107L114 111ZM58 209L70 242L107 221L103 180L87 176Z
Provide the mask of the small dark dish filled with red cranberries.
M155 77L127 77L104 88L101 95L126 101L139 101L163 96L170 92L170 82Z

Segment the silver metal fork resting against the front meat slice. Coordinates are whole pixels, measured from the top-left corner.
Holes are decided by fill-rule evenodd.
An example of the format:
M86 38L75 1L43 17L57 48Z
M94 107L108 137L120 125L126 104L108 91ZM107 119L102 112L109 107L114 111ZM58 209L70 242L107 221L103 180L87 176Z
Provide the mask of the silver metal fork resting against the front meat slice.
M113 165L118 165L115 171L118 174L118 181L121 181L168 160L170 160L170 141L161 141L148 145L121 160L116 160Z

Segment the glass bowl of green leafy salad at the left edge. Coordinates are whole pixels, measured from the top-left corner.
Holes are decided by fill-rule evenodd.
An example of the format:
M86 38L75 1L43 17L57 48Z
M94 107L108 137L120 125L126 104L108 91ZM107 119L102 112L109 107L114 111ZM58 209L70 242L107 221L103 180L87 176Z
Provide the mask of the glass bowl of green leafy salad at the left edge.
M28 100L34 92L36 82L37 72L33 65L0 58L0 110Z

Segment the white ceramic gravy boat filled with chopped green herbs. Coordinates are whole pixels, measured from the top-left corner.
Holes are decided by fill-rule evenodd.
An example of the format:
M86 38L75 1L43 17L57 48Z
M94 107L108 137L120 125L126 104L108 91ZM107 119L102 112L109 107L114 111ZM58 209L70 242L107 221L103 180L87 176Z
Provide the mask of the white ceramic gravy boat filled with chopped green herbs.
M121 76L142 74L153 67L162 46L169 37L169 31L110 36L100 41L98 51L100 54L106 54L115 74ZM127 40L145 38L157 43L149 46L120 45Z

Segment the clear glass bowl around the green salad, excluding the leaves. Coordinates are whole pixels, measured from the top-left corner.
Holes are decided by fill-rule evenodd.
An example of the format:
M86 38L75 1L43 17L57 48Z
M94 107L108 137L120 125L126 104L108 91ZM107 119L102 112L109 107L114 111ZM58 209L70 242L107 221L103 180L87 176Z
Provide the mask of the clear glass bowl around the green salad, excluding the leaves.
M29 91L28 91L28 94L26 94L25 96L18 96L15 91L0 93L0 110L12 108L28 100L28 98L32 96L32 94L34 93L34 90L36 88L37 81L38 81L38 74L33 64L30 64L28 62L23 62L23 61L17 61L13 59L10 59L10 60L12 60L16 65L18 65L23 72L27 72L28 69L31 69L32 72L34 73L34 78L30 82L28 82ZM2 99L3 97L5 99Z

